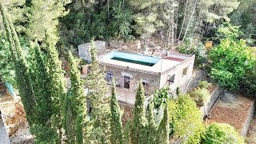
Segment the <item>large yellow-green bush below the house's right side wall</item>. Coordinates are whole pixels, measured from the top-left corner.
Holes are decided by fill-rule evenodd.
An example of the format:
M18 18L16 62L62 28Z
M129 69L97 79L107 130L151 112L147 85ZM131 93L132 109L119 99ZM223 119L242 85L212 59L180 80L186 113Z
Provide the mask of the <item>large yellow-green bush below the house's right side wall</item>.
M202 113L189 95L181 95L168 102L170 136L182 138L182 142L198 143L204 125Z

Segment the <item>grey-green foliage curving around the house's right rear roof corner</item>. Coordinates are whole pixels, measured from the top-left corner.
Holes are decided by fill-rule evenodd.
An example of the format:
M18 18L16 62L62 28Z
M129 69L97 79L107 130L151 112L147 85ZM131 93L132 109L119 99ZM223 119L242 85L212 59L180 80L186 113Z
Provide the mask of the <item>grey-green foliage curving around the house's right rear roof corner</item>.
M195 64L201 66L207 61L206 47L197 39L187 38L178 51L184 54L195 54Z

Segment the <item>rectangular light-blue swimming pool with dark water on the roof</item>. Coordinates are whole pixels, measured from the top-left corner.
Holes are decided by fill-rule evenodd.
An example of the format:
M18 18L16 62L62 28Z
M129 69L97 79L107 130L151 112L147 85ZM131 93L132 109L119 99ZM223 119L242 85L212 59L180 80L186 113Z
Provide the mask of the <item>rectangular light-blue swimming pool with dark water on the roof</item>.
M135 63L143 66L154 66L154 64L161 60L161 58L121 51L113 51L110 54L106 54L105 58L110 58L116 61Z

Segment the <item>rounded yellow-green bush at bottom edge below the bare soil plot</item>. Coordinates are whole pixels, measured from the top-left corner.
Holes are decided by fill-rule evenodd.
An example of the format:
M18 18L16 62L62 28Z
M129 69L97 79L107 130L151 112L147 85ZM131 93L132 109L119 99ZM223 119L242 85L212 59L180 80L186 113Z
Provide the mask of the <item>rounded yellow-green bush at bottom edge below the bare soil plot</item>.
M206 127L206 132L202 135L201 143L242 144L245 143L245 140L238 134L233 126L226 123L213 123Z

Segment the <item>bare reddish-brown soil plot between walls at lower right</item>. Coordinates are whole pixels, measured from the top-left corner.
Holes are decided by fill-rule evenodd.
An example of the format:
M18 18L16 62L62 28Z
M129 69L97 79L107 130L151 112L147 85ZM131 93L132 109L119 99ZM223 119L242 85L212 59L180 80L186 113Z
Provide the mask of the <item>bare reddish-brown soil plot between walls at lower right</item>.
M241 95L232 103L219 100L216 106L214 106L207 123L228 123L234 126L240 133L252 105L253 100L251 98L246 98Z

